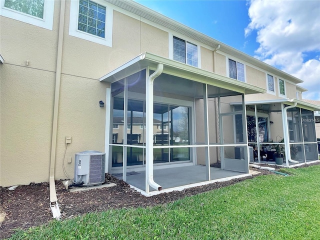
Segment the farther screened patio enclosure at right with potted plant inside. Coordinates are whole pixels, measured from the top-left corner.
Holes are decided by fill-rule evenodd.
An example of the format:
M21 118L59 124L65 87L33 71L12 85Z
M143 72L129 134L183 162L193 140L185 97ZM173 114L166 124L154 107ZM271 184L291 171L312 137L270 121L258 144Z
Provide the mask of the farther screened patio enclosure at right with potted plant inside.
M314 111L319 106L298 99L245 105L248 146L253 151L250 161L294 166L318 160ZM237 108L241 102L234 104Z

